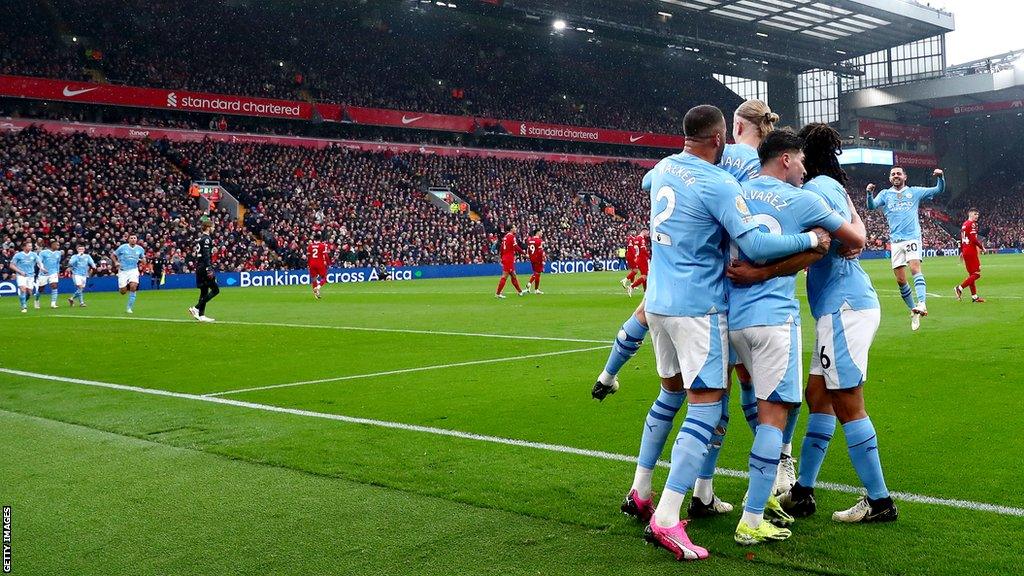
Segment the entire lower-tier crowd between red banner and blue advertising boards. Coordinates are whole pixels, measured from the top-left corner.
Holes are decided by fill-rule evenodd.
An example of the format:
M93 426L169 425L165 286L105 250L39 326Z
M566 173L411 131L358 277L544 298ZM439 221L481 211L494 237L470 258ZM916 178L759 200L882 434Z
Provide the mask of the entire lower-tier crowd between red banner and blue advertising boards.
M150 142L29 128L0 134L0 265L29 238L57 240L69 251L85 244L106 273L103 260L137 234L150 256L162 254L171 272L188 272L204 213L187 194L190 179L218 180L244 206L241 222L214 214L215 261L225 271L302 268L316 238L336 246L338 265L495 261L510 224L520 238L543 229L551 259L610 258L628 233L646 227L644 171L627 162ZM468 209L438 205L428 188L450 191L453 203ZM863 182L850 190L867 225L867 248L886 249L884 215L863 207ZM988 247L1024 245L1024 184L981 190L987 192L923 207L925 247L954 248L955 229L973 205L982 209ZM6 268L0 274L7 276Z

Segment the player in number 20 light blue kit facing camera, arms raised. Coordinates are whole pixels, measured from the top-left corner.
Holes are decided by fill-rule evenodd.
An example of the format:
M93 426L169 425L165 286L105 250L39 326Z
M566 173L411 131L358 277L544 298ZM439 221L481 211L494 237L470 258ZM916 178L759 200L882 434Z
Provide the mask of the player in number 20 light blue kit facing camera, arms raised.
M932 188L906 186L906 172L900 166L893 166L889 171L888 188L872 197L874 184L867 184L867 208L881 208L889 221L889 244L892 252L893 274L903 301L910 308L910 329L921 328L921 317L928 316L928 305L925 299L928 292L925 288L925 275L921 273L921 221L918 217L918 206L922 200L933 198L946 189L946 180L942 170L936 168L932 173L938 181ZM910 286L906 283L906 266L910 265L913 275L913 287L918 293L918 303L913 303Z

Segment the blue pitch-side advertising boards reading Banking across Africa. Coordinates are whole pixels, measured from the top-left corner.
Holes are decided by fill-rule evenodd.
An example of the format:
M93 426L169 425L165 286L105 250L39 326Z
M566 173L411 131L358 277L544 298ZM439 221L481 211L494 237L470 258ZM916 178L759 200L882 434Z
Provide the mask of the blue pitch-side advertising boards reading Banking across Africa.
M1018 248L1008 248L998 251L999 254L1020 254ZM955 256L955 249L925 250L926 257ZM888 258L889 251L874 250L861 254L861 258ZM615 258L591 260L555 260L545 262L547 274L584 274L590 272L620 272L626 269L626 262ZM528 276L532 272L529 262L517 262L516 273ZM500 276L501 264L451 264L427 266L397 266L382 270L371 268L342 269L333 268L328 271L328 282L332 284L350 284L360 282L381 282L384 280L406 282L410 280L427 280L438 278L468 278L474 276ZM140 277L140 290L155 290L157 286L147 275ZM161 289L196 288L196 277L191 274L170 274L164 279ZM307 286L309 272L305 270L252 271L252 272L221 272L217 274L217 282L223 288L264 288L268 286ZM71 295L75 286L70 278L61 278L58 289L65 295ZM87 291L113 292L118 289L117 277L100 276L89 279ZM15 296L17 290L13 281L0 282L0 296Z

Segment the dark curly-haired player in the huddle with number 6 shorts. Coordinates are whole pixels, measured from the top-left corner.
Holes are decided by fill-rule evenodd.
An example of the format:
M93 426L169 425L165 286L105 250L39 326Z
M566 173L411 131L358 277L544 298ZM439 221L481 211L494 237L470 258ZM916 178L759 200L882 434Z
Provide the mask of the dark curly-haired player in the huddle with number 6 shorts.
M824 199L846 220L862 227L843 188L847 175L839 164L843 142L839 132L827 124L809 124L800 135L805 139L807 175L811 177L804 188ZM834 247L807 274L807 299L817 323L806 390L811 414L800 451L800 478L779 500L795 517L814 513L814 485L838 416L850 460L867 495L853 507L833 513L833 520L890 522L896 520L898 510L882 472L874 425L864 409L867 353L881 311L871 280L855 258L859 250L850 248Z

